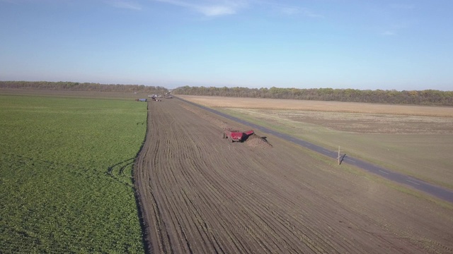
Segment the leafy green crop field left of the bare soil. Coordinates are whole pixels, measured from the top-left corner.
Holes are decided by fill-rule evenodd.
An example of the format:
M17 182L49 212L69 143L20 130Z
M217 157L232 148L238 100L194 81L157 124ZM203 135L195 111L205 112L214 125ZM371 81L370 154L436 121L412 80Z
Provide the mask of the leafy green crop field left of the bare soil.
M143 253L132 164L147 104L1 95L0 253Z

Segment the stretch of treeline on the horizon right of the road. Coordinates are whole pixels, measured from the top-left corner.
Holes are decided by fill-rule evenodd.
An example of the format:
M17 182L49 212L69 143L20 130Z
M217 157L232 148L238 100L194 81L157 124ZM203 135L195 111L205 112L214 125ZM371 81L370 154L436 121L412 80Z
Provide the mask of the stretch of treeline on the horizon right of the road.
M367 102L383 104L416 104L453 106L453 91L422 90L357 90L333 88L247 88L247 87L178 87L175 95L210 95L272 99L306 99L336 102Z

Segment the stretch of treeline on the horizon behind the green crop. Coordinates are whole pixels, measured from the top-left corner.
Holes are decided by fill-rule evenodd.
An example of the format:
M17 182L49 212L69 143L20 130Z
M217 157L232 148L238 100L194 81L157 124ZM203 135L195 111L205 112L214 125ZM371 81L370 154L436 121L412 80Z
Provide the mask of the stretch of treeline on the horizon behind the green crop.
M47 82L47 81L0 81L0 87L18 89L71 90L96 92L144 92L149 94L165 94L168 89L160 86L146 85L113 85L78 82Z

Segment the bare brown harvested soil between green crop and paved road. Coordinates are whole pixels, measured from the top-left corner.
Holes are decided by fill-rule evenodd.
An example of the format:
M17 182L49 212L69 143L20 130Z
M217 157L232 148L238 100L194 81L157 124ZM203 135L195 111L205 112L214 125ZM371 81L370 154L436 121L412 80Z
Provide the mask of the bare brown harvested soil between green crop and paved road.
M453 252L451 208L279 138L228 143L224 121L177 99L149 102L134 167L149 253Z

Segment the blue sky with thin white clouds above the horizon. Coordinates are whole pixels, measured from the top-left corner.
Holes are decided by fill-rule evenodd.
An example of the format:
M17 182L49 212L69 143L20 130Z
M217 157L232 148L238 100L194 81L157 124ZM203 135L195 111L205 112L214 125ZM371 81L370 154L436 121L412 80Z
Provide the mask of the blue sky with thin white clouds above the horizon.
M453 90L453 1L0 0L0 80Z

